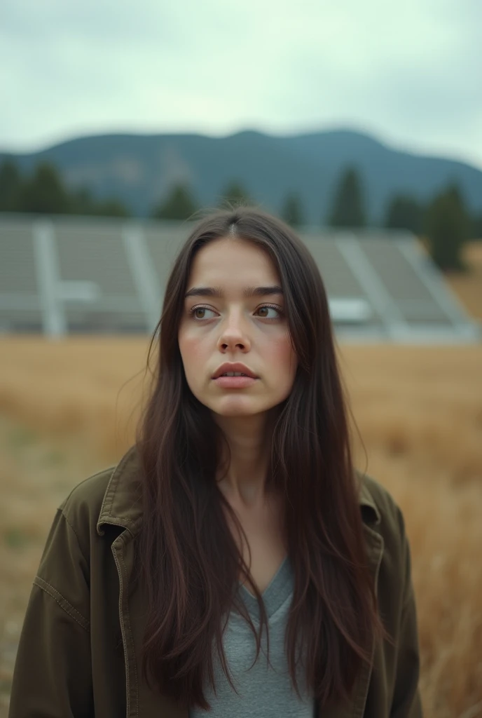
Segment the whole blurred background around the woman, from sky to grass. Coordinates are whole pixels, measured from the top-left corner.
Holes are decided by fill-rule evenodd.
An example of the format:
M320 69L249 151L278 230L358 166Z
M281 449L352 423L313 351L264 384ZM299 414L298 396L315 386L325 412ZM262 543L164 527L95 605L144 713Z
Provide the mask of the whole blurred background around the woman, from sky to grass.
M57 505L133 442L194 213L316 258L356 465L400 503L427 718L482 716L482 5L4 0L0 717Z

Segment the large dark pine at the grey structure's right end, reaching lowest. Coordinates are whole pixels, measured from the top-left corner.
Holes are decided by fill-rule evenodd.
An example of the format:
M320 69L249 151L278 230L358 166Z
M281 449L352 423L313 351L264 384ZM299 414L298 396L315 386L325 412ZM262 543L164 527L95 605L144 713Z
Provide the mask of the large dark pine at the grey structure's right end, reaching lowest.
M430 254L440 269L465 269L462 248L470 234L470 220L455 184L436 195L430 203L426 234Z

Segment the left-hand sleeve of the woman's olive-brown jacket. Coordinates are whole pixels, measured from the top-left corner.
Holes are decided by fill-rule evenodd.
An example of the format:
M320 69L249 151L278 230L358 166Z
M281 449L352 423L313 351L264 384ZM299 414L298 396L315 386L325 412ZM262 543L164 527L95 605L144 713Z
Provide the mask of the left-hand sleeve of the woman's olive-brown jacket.
M24 617L9 718L93 717L89 586L88 561L59 508Z

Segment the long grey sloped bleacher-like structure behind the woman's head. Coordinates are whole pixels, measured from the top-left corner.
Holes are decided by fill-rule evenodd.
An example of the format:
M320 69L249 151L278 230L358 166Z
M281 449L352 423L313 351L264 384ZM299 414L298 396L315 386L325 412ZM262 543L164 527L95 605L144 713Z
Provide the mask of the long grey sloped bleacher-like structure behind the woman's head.
M151 332L189 223L0 216L0 331ZM468 317L410 233L300 232L339 337L472 342Z

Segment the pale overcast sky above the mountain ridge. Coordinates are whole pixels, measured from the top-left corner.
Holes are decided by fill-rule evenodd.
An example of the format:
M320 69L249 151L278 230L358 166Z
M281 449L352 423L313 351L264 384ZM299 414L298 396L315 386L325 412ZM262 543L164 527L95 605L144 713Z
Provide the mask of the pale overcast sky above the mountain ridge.
M0 149L344 127L482 168L482 0L2 0Z

